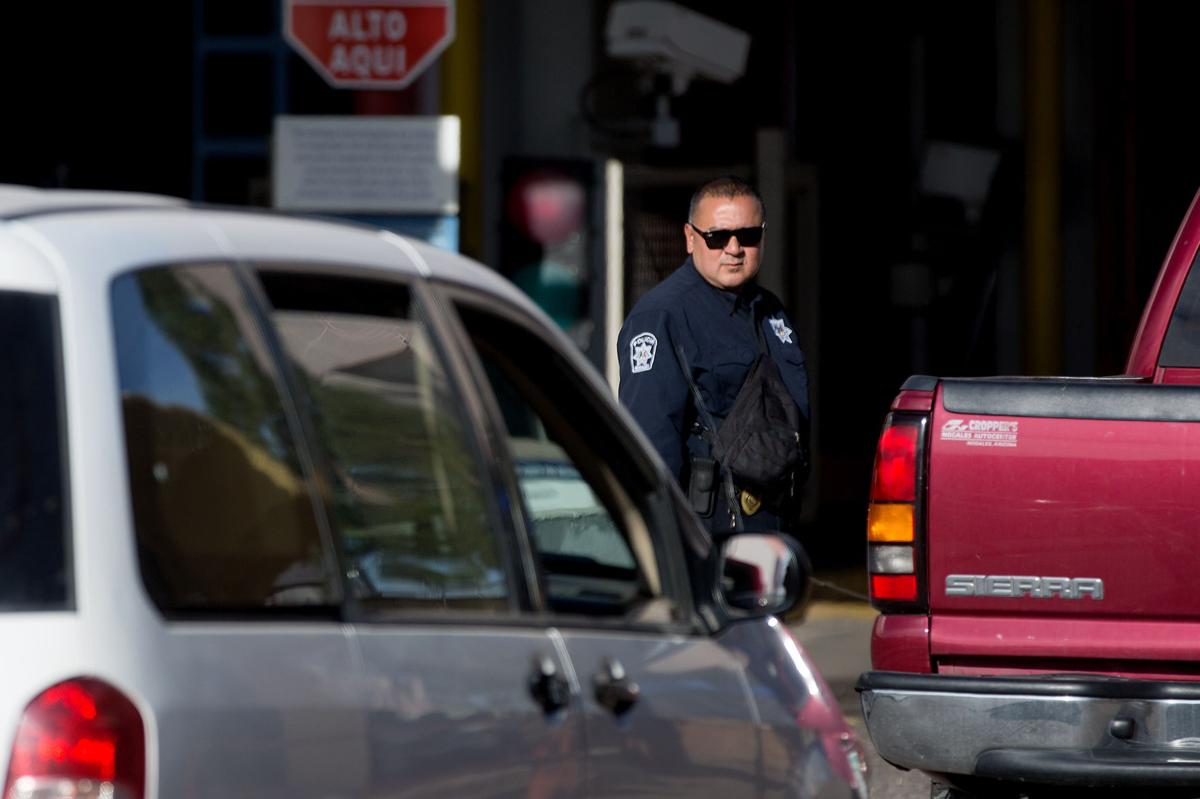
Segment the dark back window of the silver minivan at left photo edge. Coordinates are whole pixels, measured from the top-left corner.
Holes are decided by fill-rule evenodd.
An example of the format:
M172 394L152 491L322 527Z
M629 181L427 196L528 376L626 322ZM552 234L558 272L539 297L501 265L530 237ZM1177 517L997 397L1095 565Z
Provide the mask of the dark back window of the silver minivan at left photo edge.
M58 304L0 292L0 609L71 606Z

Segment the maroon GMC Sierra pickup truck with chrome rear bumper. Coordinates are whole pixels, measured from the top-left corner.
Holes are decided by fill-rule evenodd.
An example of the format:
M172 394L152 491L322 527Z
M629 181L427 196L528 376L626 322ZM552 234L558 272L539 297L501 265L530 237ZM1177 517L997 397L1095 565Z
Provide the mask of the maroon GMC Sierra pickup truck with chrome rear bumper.
M1126 374L910 378L868 515L888 762L935 795L1200 795L1200 194Z

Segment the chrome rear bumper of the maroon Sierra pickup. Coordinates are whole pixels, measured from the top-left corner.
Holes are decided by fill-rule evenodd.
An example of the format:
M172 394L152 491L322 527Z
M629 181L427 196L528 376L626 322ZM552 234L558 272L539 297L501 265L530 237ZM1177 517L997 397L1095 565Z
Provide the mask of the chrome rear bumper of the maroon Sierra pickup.
M1079 787L1200 787L1200 683L868 672L875 749L934 774Z

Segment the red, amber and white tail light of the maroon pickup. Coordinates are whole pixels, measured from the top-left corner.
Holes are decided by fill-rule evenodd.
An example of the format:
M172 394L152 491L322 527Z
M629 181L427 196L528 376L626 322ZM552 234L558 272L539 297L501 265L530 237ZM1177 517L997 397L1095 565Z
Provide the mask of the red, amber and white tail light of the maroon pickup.
M919 500L925 425L923 414L888 414L875 451L866 560L871 602L884 611L924 609Z

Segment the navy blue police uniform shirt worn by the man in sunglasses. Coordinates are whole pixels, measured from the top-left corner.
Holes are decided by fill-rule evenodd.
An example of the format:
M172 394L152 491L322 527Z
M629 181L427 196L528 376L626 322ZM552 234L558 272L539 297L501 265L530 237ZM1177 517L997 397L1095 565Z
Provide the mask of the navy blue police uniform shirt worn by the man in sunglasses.
M698 415L676 347L683 348L704 404L720 422L758 355L755 319L808 423L804 353L779 299L757 283L740 293L719 289L688 258L637 301L620 329L618 396L685 491L689 458L707 456L708 444L692 429Z

